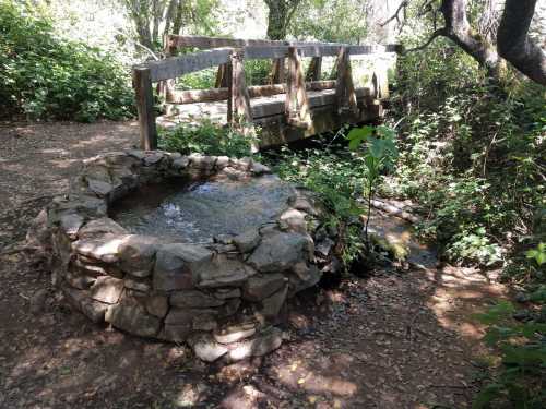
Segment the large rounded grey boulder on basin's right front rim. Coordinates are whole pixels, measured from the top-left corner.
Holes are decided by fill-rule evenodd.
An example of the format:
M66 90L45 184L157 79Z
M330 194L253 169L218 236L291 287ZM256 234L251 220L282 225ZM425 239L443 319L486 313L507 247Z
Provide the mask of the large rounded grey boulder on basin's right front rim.
M308 237L295 232L265 236L248 262L263 273L284 272L307 258L309 244Z

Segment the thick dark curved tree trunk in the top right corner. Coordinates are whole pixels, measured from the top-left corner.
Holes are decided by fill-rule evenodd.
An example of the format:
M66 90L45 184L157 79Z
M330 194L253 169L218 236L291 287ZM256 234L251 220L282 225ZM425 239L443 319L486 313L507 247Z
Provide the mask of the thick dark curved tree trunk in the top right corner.
M546 85L546 52L529 38L536 0L506 0L497 32L500 56L521 73Z

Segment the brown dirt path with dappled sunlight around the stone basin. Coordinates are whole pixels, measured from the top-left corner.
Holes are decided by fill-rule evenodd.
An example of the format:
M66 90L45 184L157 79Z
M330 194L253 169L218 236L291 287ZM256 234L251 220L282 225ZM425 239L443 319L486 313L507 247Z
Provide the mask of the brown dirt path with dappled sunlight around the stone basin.
M0 128L0 253L81 158L129 147L133 123ZM503 289L479 272L383 270L302 294L264 359L207 365L183 346L91 324L47 273L0 255L0 408L465 408L485 352L472 314ZM46 288L44 303L35 294Z

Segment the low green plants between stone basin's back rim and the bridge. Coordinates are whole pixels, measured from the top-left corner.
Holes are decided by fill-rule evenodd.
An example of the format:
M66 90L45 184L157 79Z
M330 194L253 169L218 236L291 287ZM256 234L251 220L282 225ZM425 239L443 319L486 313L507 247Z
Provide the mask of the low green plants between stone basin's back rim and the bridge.
M238 158L252 155L253 142L250 136L242 135L232 127L221 127L209 120L162 130L158 141L159 148L182 155L202 153Z

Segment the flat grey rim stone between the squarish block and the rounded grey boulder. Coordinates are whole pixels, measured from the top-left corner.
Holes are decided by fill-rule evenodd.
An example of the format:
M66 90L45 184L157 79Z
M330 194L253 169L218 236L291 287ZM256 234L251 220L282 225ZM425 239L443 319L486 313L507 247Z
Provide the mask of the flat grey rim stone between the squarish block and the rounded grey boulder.
M209 263L197 266L192 273L197 287L215 288L239 286L254 275L256 270L238 260L230 260L219 254Z

